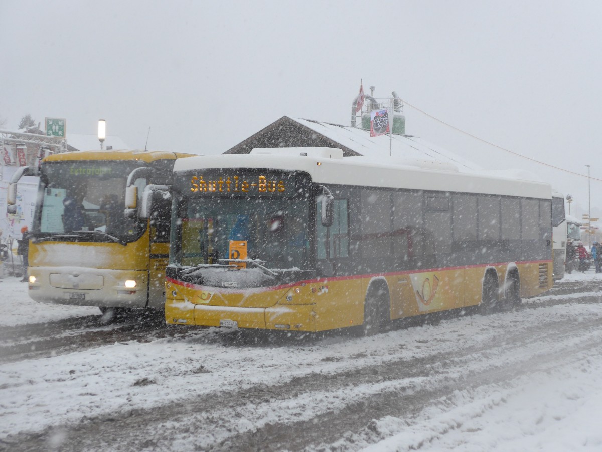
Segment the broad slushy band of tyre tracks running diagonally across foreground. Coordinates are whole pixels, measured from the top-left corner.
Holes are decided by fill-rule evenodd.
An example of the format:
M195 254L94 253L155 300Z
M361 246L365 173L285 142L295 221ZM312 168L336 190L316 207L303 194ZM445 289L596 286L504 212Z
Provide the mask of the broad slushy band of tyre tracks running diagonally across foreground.
M600 303L599 297L590 298L563 304ZM521 309L532 307L544 306ZM18 443L17 437L7 438L5 444L37 450L63 435L61 450L66 451L93 450L99 445L111 450L177 450L184 444L188 450L349 450L358 439L368 444L379 441L373 419L412 419L454 391L505 384L520 375L577 362L583 350L602 353L601 316L568 321L551 316L539 325L518 326L506 322L509 318L505 313L488 316L481 328L494 324L498 332L467 346L446 348L433 339L429 345L433 353L383 358L376 365L365 363L358 350L357 366L354 357L346 356L343 359L349 359L350 366L338 371L317 369L276 385L212 392L153 409L82 419L78 425L19 435ZM387 353L394 351L382 351L383 356ZM306 397L313 399L314 406L304 403ZM330 400L337 402L337 408L329 407ZM233 422L241 418L249 424Z

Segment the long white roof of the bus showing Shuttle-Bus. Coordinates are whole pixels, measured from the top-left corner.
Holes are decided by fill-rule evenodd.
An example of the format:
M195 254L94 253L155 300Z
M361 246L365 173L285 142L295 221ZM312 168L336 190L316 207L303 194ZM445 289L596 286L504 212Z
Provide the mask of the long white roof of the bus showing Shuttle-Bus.
M301 155L307 154L307 155ZM329 156L330 155L330 156ZM256 168L303 171L322 184L386 187L441 192L485 193L551 199L547 183L494 177L483 172L459 172L445 163L343 157L334 148L253 149L250 154L220 154L176 160L173 170Z

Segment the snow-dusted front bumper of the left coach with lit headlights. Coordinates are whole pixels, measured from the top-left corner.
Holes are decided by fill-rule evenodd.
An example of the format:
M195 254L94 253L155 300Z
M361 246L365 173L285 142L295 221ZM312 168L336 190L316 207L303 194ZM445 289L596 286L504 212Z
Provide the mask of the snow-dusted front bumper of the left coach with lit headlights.
M146 307L148 272L77 267L29 267L32 300L41 303L98 307ZM135 287L125 287L135 280Z

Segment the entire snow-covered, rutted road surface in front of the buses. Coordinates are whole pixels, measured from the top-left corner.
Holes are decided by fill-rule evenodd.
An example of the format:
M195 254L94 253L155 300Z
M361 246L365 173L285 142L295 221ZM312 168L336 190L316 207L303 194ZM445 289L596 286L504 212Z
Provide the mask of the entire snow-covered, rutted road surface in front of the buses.
M0 449L602 448L593 272L368 338L106 325L0 286Z

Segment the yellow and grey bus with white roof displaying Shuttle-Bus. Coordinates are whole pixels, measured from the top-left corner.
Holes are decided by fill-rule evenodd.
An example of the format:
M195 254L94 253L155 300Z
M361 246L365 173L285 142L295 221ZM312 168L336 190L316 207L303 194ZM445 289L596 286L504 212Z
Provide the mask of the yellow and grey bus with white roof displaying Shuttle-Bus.
M370 334L553 284L544 183L332 148L193 157L174 171L168 324Z

